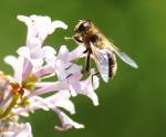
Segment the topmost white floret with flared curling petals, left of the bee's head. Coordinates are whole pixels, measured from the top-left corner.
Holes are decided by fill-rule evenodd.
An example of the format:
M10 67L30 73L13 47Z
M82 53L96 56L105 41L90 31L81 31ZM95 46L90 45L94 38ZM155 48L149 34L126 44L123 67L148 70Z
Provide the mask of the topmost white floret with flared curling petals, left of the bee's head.
M62 21L51 22L49 17L41 17L35 14L30 17L18 15L18 20L24 22L28 27L27 46L30 46L30 49L33 49L31 46L33 45L32 43L38 43L40 41L42 44L48 34L52 34L55 29L68 29L68 25Z

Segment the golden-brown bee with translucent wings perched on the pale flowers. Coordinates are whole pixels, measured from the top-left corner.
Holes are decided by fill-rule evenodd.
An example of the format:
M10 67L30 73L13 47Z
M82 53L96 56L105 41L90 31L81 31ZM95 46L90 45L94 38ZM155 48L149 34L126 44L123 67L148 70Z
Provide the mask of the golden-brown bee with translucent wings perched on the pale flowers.
M113 78L116 74L117 63L115 54L125 63L134 68L137 64L122 50L115 46L97 27L90 20L80 20L74 29L75 34L71 36L75 42L82 43L86 50L86 64L84 72L90 71L90 57L92 56L96 63L98 72L104 82Z

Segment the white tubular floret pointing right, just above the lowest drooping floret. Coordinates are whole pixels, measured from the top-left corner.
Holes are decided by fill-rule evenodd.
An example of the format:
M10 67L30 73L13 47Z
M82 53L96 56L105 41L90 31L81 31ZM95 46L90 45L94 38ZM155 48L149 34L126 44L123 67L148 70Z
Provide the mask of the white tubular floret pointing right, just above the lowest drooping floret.
M14 112L20 114L25 114L25 112L35 110L39 108L43 108L44 110L52 109L54 107L61 107L70 112L71 114L75 114L74 104L70 101L71 94L69 91L60 91L56 94L53 94L49 97L42 98L40 96L33 96L29 101L32 103L27 108L17 108Z

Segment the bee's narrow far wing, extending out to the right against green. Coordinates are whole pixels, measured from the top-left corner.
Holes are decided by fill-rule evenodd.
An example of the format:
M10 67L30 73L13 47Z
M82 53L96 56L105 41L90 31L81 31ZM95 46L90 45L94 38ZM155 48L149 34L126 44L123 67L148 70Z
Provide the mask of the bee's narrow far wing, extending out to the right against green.
M138 65L136 64L136 62L131 59L126 53L124 53L122 50L120 50L117 46L115 46L114 44L111 44L111 46L113 49L111 49L111 51L114 51L115 54L122 60L124 61L126 64L131 65L134 68L137 68Z

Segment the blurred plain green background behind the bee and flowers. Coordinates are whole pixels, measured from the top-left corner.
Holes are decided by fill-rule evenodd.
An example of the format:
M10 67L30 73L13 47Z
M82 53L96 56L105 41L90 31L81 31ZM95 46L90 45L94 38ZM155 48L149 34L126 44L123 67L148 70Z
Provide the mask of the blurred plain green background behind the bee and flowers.
M25 42L27 28L18 14L50 15L62 20L69 30L58 30L45 41L55 49L75 43L64 41L79 19L93 20L129 54L138 70L118 60L114 81L96 91L100 106L86 97L73 98L73 119L86 128L66 133L54 131L60 124L52 112L37 112L29 118L34 137L166 137L166 1L165 0L1 0L0 68L11 73L3 56L15 54Z

